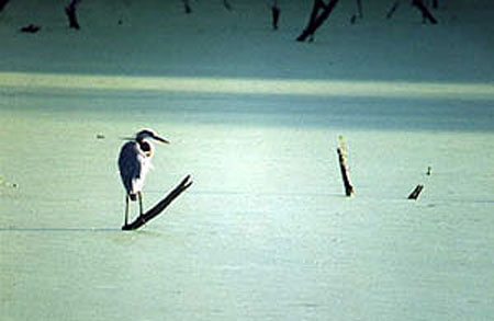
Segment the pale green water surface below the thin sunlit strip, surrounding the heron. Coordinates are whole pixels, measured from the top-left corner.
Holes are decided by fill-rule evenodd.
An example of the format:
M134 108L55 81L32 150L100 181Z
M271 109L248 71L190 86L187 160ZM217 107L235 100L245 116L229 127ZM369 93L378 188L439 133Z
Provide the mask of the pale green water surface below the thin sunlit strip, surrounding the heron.
M1 93L2 320L494 317L489 102L121 95ZM141 127L172 142L146 205L194 185L122 232L119 137Z

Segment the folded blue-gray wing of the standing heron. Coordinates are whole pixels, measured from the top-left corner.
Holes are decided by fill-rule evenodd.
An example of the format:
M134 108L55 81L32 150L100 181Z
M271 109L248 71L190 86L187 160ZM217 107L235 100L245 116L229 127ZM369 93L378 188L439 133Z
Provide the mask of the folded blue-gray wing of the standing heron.
M128 141L122 147L119 156L119 169L127 194L137 192L134 191L134 182L141 177L143 170L142 154L137 142Z

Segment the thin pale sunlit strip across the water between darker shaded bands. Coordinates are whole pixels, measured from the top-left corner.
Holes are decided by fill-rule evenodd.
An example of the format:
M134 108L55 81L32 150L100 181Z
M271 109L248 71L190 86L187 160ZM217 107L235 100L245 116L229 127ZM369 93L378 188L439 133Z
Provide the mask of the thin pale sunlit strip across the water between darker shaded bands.
M493 83L136 77L0 72L0 87L25 90L115 90L312 96L451 98L494 100Z

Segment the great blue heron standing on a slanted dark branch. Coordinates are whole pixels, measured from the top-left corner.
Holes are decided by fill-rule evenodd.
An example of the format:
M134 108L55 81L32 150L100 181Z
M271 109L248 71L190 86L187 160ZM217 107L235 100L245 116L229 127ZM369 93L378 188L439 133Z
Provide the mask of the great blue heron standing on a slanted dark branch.
M143 129L135 135L135 138L128 138L130 141L122 146L119 156L119 169L122 183L126 191L125 197L125 225L127 225L130 200L139 200L139 215L143 215L143 186L147 172L151 168L155 147L149 139L169 144L162 137L159 137L153 129Z

